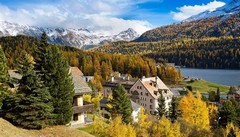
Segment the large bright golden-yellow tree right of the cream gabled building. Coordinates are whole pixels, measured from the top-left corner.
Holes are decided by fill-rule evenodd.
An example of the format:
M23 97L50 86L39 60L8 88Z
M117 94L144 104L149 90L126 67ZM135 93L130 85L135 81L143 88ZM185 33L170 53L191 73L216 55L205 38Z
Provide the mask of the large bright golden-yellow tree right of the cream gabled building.
M183 119L203 129L209 129L209 113L206 102L201 100L201 94L196 97L191 92L184 96L179 102L179 109L182 111Z

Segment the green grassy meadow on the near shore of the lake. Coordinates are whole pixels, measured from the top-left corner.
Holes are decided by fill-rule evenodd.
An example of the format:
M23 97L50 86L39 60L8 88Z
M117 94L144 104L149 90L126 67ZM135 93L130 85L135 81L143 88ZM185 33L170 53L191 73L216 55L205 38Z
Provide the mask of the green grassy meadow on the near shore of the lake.
M207 93L208 91L217 91L217 88L220 89L221 94L226 94L229 90L229 86L212 83L205 80L198 80L194 82L187 82L187 86L192 86L193 91L200 91L201 93Z

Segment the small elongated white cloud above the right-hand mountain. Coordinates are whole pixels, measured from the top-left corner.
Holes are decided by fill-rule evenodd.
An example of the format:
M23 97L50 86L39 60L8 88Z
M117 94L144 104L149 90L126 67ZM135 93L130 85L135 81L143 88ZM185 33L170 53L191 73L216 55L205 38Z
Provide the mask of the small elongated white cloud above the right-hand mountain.
M184 19L187 19L193 15L197 15L198 13L204 12L206 10L214 11L218 7L224 6L225 3L221 1L212 1L208 4L202 4L202 5L194 5L194 6L187 6L184 5L183 7L177 8L179 12L171 12L173 15L173 19L177 21L181 21Z

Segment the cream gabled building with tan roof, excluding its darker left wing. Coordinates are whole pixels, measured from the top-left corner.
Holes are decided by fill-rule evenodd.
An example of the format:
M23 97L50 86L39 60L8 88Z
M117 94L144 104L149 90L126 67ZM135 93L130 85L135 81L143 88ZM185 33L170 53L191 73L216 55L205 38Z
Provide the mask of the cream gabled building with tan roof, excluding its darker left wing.
M143 106L151 114L155 114L158 108L158 99L161 93L165 99L166 109L169 109L173 93L159 77L138 79L128 92L134 102Z

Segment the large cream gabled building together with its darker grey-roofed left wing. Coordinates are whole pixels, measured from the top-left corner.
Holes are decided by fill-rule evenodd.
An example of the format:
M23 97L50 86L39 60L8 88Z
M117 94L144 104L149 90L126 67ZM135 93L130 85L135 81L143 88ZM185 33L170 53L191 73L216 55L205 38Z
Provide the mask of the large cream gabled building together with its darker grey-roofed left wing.
M112 94L112 90L117 87L118 84L124 86L132 102L143 106L144 109L151 114L155 114L158 108L158 99L161 93L165 99L166 109L169 109L172 97L174 96L173 92L170 91L159 77L136 79L123 77L123 75L117 77L112 76L109 81L103 83L101 110L106 117L109 115L106 111L107 98ZM179 94L176 95L179 96Z

